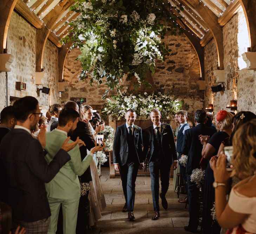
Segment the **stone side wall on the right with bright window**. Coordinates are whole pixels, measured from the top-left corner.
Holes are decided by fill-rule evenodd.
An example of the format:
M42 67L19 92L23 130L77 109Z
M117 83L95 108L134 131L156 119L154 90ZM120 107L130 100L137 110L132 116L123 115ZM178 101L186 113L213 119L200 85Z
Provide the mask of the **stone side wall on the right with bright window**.
M245 16L238 12L224 27L224 71L225 90L211 92L211 86L216 85L213 71L217 69L217 50L212 39L204 48L205 52L205 99L204 107L214 104L214 111L227 110L230 100L237 99L237 111L256 113L256 73L247 70L242 59L242 53L249 47L248 31Z

